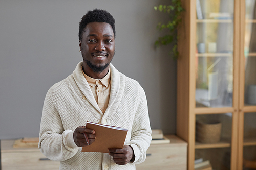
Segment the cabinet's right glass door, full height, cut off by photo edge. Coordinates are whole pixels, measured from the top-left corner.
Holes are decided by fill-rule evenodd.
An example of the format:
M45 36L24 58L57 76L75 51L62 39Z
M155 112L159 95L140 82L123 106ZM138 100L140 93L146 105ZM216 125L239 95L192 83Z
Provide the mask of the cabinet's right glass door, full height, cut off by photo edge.
M245 0L243 167L256 169L256 1Z

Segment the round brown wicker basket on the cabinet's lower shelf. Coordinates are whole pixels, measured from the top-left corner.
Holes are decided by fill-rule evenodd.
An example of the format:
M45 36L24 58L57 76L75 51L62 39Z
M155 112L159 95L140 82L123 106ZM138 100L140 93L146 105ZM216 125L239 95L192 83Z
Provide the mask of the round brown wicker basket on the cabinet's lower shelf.
M217 143L221 137L221 123L196 122L196 140L202 143Z

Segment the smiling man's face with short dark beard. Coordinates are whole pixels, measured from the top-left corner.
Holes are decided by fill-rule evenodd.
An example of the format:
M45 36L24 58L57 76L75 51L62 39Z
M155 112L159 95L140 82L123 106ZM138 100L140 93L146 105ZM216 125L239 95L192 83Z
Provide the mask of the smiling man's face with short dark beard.
M84 28L79 43L86 74L109 69L115 54L115 38L112 27L105 22L90 22Z

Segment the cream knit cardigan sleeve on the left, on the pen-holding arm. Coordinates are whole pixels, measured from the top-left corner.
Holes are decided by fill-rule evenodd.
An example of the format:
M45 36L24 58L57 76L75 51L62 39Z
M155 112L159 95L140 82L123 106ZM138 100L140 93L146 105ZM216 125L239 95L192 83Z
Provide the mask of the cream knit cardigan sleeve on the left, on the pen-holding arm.
M47 158L54 161L72 158L79 149L74 142L73 131L64 131L60 115L51 100L51 89L44 101L38 147Z

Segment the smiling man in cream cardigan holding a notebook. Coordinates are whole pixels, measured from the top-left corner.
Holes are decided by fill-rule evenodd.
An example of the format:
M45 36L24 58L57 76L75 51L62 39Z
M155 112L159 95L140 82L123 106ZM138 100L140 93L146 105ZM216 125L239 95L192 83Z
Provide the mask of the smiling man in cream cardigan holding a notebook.
M151 142L144 90L110 63L115 53L115 20L104 10L89 11L79 25L83 61L73 74L46 94L39 149L60 169L135 169ZM128 129L123 149L109 153L81 152L97 140L86 121Z

